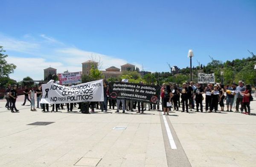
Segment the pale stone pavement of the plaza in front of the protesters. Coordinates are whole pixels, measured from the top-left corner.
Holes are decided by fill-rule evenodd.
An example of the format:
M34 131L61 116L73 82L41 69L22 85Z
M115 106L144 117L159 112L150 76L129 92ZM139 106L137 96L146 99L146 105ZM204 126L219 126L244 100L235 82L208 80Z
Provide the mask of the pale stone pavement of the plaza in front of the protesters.
M22 98L22 97L19 97ZM241 113L11 113L0 100L0 167L255 167L256 102ZM29 104L29 103L27 103ZM76 111L76 109L74 110ZM28 125L54 122L49 125ZM114 127L124 127L125 129Z

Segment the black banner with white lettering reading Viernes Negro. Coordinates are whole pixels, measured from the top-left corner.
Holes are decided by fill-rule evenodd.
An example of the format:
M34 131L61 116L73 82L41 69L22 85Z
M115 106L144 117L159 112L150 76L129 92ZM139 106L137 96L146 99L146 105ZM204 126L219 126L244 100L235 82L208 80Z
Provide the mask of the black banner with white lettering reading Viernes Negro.
M109 83L111 99L127 99L132 101L157 104L160 98L160 86L142 85L124 82Z

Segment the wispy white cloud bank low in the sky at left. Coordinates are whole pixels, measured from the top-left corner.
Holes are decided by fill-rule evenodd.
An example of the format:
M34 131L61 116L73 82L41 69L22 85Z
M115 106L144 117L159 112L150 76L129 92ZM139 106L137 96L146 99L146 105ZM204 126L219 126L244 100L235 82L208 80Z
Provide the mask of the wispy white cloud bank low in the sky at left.
M125 59L84 51L76 47L67 47L64 43L45 34L41 34L40 37L25 34L23 39L25 40L17 40L0 34L0 45L3 45L9 55L6 60L17 65L14 74L10 75L12 79L16 80L22 80L26 76L41 80L44 78L44 69L49 66L56 68L57 73L63 73L66 70L71 72L82 71L81 63L89 59L100 62L100 70L105 70L110 66L121 68L121 65L127 63ZM30 57L23 56L22 53L31 55ZM142 70L138 63L130 63Z

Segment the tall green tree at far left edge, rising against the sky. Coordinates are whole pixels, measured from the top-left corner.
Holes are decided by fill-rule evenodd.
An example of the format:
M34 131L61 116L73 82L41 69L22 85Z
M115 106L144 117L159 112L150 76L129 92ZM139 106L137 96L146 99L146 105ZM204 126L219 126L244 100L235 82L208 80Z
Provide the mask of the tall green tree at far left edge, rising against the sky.
M3 54L3 52L5 52L5 50L3 50L3 46L0 46L0 78L8 77L16 68L16 65L13 63L7 63L5 58L8 57L8 55Z

